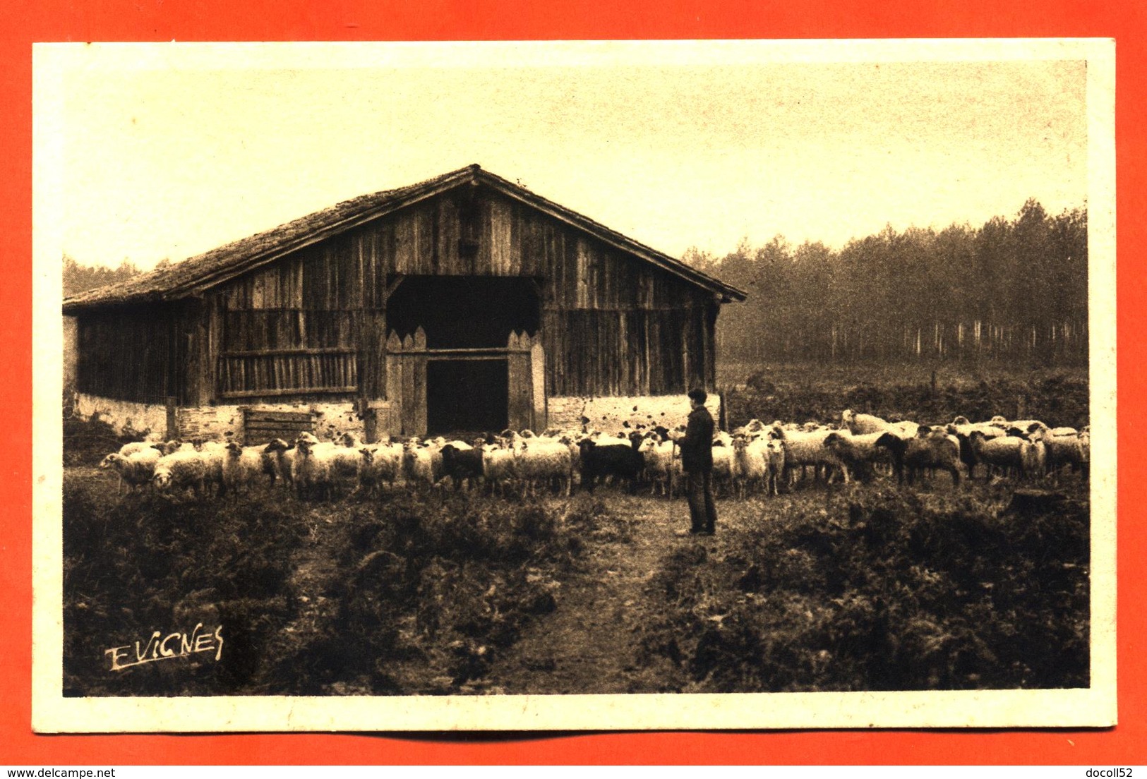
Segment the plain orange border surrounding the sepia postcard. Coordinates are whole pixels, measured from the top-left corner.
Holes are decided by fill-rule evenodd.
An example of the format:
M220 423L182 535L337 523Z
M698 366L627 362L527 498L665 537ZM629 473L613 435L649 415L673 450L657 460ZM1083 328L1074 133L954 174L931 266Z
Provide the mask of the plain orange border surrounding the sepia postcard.
M1095 7L1091 7L1095 6ZM6 283L0 285L0 764L1145 764L1147 480L1131 431L1145 420L1147 255L1145 18L1138 0L45 0L0 7L0 165ZM1119 289L1118 692L1106 731L635 733L439 739L331 735L31 733L31 44L118 40L448 40L604 38L1115 37ZM1130 336L1130 337L1129 337ZM9 459L10 458L10 459Z

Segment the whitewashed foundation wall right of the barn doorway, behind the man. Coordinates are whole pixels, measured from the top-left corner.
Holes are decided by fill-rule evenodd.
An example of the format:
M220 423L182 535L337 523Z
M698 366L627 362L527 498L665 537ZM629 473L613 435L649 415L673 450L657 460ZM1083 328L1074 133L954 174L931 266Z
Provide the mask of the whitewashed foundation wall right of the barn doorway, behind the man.
M618 433L629 422L631 428L674 428L685 424L689 415L689 398L685 395L662 395L656 397L583 398L553 397L547 402L548 423L563 430L582 429L582 418L588 418L587 427L602 433ZM720 398L710 395L705 407L720 419Z

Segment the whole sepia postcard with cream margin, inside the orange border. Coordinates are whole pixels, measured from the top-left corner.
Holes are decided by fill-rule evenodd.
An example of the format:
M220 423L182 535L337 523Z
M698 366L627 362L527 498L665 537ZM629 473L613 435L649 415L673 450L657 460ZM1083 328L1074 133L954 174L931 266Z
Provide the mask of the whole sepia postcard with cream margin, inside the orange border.
M1114 724L1114 77L37 45L37 730Z

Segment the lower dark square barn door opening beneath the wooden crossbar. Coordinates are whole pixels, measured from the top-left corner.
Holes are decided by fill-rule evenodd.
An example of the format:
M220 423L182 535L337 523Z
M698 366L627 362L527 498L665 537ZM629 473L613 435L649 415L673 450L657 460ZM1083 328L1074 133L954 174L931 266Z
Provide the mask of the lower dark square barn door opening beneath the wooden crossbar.
M508 406L505 359L427 364L427 435L469 441L479 433L505 430Z

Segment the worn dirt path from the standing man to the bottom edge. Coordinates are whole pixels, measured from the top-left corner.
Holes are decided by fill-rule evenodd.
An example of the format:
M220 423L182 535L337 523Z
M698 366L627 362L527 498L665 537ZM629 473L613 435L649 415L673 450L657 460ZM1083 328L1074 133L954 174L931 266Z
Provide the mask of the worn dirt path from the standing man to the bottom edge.
M649 613L646 585L674 548L713 538L678 538L688 527L681 500L609 496L610 512L630 525L630 539L586 539L578 568L555 593L557 608L539 618L485 681L509 694L656 692L657 679L638 662L635 633Z

